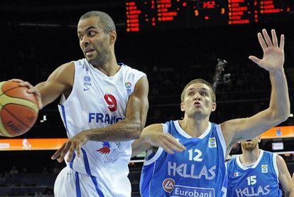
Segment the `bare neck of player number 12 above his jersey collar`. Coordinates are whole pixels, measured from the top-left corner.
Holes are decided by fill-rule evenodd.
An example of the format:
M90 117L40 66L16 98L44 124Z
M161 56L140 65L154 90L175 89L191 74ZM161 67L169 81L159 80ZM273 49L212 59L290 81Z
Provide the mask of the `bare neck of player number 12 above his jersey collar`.
M200 137L208 127L209 117L205 119L192 119L185 117L179 121L180 127L191 137Z

